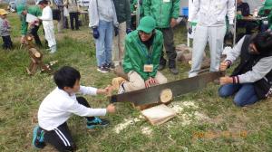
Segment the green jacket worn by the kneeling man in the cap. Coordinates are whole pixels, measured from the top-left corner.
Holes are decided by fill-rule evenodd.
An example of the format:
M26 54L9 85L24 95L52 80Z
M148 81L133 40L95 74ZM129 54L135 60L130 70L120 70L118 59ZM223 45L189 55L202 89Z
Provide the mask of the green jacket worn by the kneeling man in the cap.
M135 30L129 33L125 39L125 55L123 59L123 70L128 73L130 71L136 71L141 75L141 78L146 81L150 77L154 78L157 74L160 54L162 52L162 33L159 30L155 30L153 37L153 43L151 44L151 62L153 64L153 71L143 71L144 64L148 64L148 48L144 43L141 43L138 31Z

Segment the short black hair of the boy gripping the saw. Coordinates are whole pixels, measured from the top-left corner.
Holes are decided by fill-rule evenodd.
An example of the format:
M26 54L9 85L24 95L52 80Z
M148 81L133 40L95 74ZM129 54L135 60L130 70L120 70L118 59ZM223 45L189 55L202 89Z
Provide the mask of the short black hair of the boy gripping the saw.
M75 81L80 79L80 72L70 66L63 66L53 74L53 81L61 90L63 90L64 87L73 88Z

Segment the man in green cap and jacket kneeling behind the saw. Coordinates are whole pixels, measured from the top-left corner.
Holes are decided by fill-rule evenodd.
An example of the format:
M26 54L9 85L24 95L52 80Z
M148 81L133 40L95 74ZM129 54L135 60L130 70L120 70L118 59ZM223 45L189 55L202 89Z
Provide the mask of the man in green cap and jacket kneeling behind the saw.
M129 81L121 82L119 93L167 82L158 71L163 37L155 27L155 20L151 16L145 16L137 30L126 36L122 67L128 74Z

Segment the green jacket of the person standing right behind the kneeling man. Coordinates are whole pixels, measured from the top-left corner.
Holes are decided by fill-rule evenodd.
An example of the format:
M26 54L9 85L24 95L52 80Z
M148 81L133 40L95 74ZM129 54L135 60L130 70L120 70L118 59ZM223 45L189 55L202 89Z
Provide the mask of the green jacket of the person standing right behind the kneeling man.
M180 0L143 0L143 14L151 15L158 28L170 27L170 19L180 16Z

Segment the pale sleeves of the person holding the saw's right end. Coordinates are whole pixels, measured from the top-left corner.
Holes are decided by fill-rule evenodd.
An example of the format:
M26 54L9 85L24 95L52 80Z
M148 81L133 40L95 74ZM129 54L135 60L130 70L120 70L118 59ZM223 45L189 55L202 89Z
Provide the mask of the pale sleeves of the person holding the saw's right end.
M241 54L241 49L245 41L245 36L237 45L227 53L226 61L235 62ZM252 71L238 75L239 83L249 83L261 80L269 71L272 70L272 56L261 58L257 64L252 67Z

